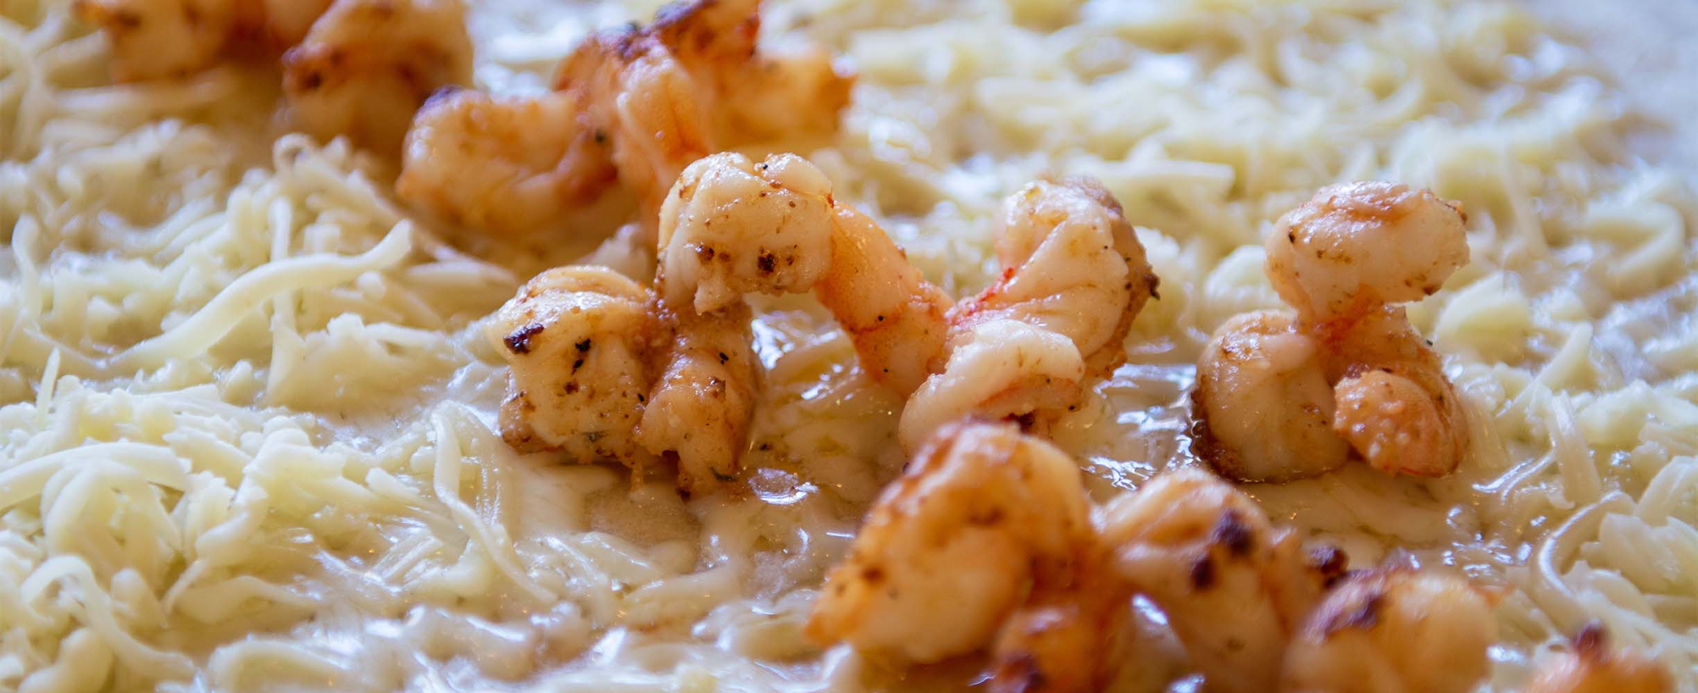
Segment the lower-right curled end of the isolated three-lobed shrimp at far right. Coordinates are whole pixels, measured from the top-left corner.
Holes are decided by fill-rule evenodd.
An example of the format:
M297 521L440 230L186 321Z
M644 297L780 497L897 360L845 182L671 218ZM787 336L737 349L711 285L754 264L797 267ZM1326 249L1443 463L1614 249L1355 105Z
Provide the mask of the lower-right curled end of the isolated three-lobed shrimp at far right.
M1438 353L1386 306L1355 321L1331 346L1333 430L1374 469L1438 477L1467 454L1467 413Z

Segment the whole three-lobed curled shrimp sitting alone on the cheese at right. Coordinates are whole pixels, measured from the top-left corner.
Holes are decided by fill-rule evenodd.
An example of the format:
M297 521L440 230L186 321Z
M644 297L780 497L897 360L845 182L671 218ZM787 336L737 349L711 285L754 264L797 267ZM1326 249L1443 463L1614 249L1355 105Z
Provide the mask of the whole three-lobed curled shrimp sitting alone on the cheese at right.
M1469 431L1443 363L1391 302L1467 263L1464 216L1391 183L1323 189L1274 226L1267 273L1296 314L1221 326L1197 362L1197 452L1241 481L1321 474L1348 452L1387 474L1445 476ZM1330 430L1330 431L1328 431Z

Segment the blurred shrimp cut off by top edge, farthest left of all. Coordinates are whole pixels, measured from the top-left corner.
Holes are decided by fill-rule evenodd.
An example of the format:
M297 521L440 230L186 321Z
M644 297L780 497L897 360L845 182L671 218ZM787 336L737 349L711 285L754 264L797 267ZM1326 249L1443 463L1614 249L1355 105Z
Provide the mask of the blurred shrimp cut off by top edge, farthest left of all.
M333 0L75 0L71 12L112 41L117 82L190 75L301 42Z

